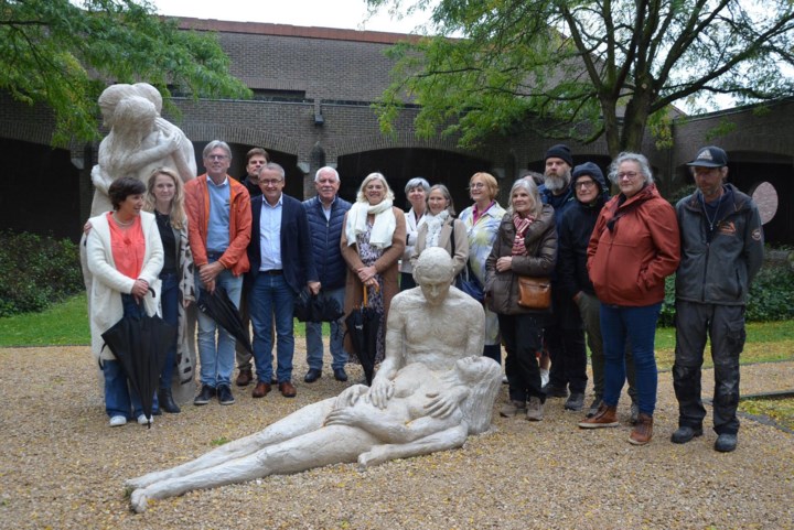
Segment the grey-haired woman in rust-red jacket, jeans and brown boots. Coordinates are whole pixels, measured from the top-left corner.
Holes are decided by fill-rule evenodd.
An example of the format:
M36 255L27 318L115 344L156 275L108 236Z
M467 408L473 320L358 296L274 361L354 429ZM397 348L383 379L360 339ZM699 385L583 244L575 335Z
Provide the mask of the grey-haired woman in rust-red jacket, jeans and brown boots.
M673 206L659 195L645 156L621 153L610 167L620 194L601 209L588 246L588 270L601 301L604 349L603 401L579 426L618 426L625 382L625 348L634 357L640 417L629 442L653 437L657 371L654 338L665 278L678 268L680 239Z

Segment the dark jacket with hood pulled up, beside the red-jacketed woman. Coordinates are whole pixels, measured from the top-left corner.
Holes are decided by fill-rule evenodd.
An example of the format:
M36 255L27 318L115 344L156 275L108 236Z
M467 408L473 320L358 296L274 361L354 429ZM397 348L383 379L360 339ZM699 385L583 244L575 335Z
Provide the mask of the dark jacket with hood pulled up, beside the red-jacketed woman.
M591 204L584 204L577 198L576 204L565 212L559 223L557 289L570 299L580 291L596 294L587 270L587 249L599 213L610 198L607 180L598 165L592 162L577 165L572 175L572 183L582 175L592 177L599 187L599 195ZM576 193L576 190L573 191Z

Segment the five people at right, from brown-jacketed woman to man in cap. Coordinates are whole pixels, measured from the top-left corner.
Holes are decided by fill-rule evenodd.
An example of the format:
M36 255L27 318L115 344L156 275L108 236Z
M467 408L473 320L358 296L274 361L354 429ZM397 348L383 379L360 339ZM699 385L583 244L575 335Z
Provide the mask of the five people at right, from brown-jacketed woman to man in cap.
M653 436L657 369L656 322L665 279L676 273L676 351L673 382L679 403L674 443L702 434L700 378L706 339L715 363L715 448L733 451L739 421L739 354L744 306L763 261L763 231L752 199L726 182L728 156L699 150L691 167L697 191L674 208L658 193L645 156L621 153L610 166L610 197L598 165L573 165L570 150L546 153L544 184L513 184L506 215L486 260L490 309L506 349L509 398L503 417L543 419L546 398L567 397L583 409L584 335L591 350L594 400L579 426L618 426L616 405L629 380L629 442ZM551 306L518 303L518 277L549 277ZM547 349L550 380L540 385ZM570 392L570 394L569 394Z

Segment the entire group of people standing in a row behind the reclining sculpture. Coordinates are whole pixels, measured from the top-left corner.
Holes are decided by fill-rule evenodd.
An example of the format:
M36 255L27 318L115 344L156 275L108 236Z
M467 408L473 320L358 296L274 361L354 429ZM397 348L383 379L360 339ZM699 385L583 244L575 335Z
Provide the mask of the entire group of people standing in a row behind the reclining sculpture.
M673 441L702 433L700 366L708 333L717 367L717 448L736 447L743 306L762 261L763 236L751 199L725 182L727 155L719 148L704 148L689 164L698 190L676 208L659 195L642 154L621 153L613 161L609 177L619 193L610 197L599 166L575 165L570 150L558 144L546 153L540 184L533 176L513 183L507 209L496 201L493 175L472 175L472 205L458 218L449 190L421 177L406 185L408 212L394 205L394 192L380 173L363 180L355 202L344 201L337 195L340 175L330 166L315 174L316 196L301 203L283 193L285 170L265 150L253 149L247 159L248 174L240 183L227 174L229 147L216 140L203 152L206 173L184 185L175 172L157 169L148 186L132 177L109 186L112 210L87 225L95 348L101 350L101 332L121 315L151 314L158 305L164 320L186 328L185 307L203 292L223 289L250 318L253 397L264 398L273 386L283 397L294 397L298 294L308 290L340 304L344 314L366 300L383 318L376 345L376 363L382 363L391 300L416 285L412 268L426 249L438 247L452 260L452 278L483 286L481 354L501 363L502 345L506 353L503 417L543 420L546 399L556 397L567 398L566 409L582 410L587 336L594 399L579 425L616 425L627 378L630 442L642 445L653 435L656 321L665 278L677 271L674 383L680 420ZM550 279L548 309L519 304L522 275ZM232 404L235 339L202 313L197 326L201 387L193 402L204 405L217 398ZM321 325L307 323L305 334L303 380L311 383L322 376ZM180 340L185 336L181 333ZM346 363L355 360L346 336L342 318L331 323L332 371L340 381L347 380ZM174 345L169 353L158 411L179 412L168 383L178 350ZM538 359L545 351L551 369L543 385ZM127 394L111 356L100 356L110 424L136 417L151 422L137 397ZM251 356L238 347L236 358L235 382L245 387L255 377Z

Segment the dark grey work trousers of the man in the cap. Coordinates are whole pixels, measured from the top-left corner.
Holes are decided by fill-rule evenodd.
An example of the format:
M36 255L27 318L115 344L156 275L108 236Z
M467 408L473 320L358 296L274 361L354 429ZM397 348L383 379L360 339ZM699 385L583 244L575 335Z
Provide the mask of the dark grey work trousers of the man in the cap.
M739 419L739 355L744 348L744 307L741 305L676 302L676 351L673 388L678 400L678 424L702 426L706 409L700 378L706 338L715 365L713 430L736 434Z

